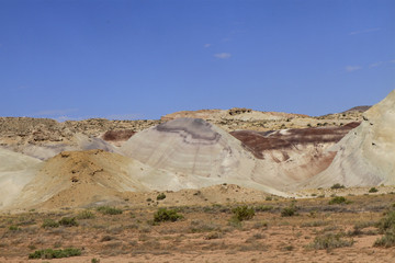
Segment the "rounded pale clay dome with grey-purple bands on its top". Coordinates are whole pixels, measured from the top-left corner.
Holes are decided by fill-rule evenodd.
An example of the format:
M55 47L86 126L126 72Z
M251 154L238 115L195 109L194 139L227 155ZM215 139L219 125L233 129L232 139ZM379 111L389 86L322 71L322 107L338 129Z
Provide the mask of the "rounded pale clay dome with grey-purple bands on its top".
M121 151L174 173L172 181L179 188L233 183L284 195L267 186L266 175L259 174L259 162L238 139L200 118L177 118L143 130L126 141ZM172 183L169 181L167 187L173 188Z

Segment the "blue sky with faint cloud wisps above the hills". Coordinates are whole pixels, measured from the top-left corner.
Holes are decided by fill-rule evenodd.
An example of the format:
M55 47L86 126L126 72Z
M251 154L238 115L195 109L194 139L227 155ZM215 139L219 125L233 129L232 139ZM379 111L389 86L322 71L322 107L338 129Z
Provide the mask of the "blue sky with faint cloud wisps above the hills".
M323 115L394 89L394 0L0 0L0 116Z

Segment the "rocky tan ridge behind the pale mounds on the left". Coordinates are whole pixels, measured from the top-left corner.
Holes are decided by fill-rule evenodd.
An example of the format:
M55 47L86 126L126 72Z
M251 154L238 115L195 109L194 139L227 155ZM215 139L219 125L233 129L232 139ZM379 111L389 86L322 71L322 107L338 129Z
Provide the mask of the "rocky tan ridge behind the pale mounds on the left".
M140 130L158 121L109 121L93 118L58 123L49 118L0 117L0 146L41 160L46 160L60 151L103 149L116 151L117 140L109 132ZM126 138L127 139L127 138ZM125 140L126 140L125 139Z

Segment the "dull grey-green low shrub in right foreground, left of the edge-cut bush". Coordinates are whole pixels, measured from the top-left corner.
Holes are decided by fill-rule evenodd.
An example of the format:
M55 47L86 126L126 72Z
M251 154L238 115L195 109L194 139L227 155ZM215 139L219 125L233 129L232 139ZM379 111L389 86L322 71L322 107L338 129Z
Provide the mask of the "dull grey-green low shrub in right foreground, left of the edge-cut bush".
M320 250L320 249L336 249L343 247L351 247L353 244L352 239L343 239L342 233L326 233L318 236L314 239L312 243L308 244L308 248Z

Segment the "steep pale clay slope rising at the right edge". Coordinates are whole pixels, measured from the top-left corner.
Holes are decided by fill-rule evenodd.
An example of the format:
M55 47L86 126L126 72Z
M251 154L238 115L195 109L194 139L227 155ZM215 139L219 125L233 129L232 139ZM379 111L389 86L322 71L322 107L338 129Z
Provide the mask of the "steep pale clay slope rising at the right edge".
M366 111L362 124L331 150L337 151L332 163L306 187L395 184L395 90Z

